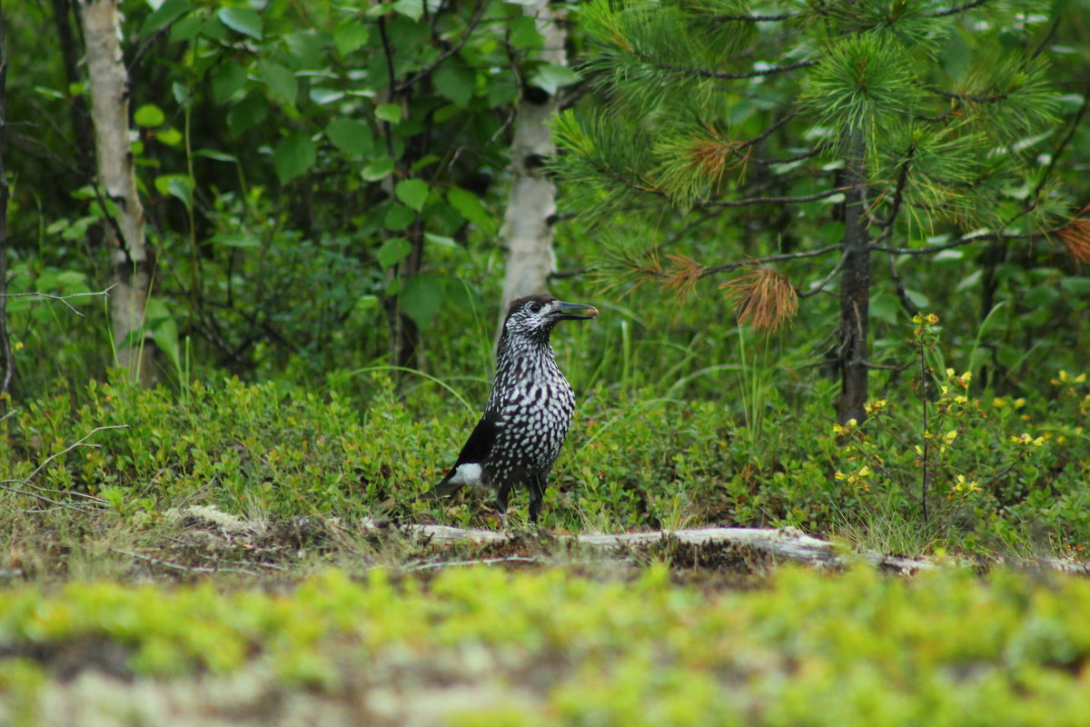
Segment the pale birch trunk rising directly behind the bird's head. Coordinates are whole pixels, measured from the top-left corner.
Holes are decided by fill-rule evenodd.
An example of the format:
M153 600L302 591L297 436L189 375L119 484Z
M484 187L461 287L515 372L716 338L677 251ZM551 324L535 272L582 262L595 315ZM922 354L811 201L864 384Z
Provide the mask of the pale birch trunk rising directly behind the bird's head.
M561 4L537 0L524 5L537 32L545 39L541 59L566 65ZM514 140L511 143L511 192L504 215L500 238L507 249L504 294L499 308L502 325L507 307L516 298L544 293L548 276L556 270L552 218L556 214L556 191L542 170L546 156L556 152L547 122L557 110L556 97L542 89L523 93L516 109Z

